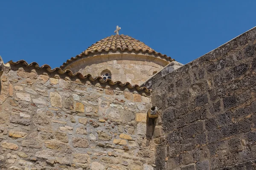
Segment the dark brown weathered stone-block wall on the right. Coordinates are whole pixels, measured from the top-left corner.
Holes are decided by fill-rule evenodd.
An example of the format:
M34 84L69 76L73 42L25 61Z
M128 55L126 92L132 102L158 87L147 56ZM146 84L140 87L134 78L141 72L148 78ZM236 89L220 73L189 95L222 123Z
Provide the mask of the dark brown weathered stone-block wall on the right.
M160 75L157 170L256 169L256 28Z

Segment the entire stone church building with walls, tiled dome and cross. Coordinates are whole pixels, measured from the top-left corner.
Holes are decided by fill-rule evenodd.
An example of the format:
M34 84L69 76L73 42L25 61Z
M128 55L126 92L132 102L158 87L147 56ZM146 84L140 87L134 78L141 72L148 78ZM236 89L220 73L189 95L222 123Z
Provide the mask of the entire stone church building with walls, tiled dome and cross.
M0 57L0 169L255 170L256 27L185 65L120 29L59 68Z

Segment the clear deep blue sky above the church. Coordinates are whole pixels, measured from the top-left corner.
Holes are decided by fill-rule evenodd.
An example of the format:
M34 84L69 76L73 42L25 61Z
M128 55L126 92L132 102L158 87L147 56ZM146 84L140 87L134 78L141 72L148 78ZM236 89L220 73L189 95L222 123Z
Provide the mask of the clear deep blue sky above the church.
M256 26L256 0L0 0L4 62L59 67L120 34L186 64Z

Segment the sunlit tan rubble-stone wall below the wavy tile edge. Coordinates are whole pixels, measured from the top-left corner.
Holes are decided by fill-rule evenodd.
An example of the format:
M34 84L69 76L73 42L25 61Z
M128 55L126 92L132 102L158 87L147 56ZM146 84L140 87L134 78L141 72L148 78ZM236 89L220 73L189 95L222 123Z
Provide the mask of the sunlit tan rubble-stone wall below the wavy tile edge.
M153 170L154 144L145 136L149 94L106 84L5 66L0 169Z

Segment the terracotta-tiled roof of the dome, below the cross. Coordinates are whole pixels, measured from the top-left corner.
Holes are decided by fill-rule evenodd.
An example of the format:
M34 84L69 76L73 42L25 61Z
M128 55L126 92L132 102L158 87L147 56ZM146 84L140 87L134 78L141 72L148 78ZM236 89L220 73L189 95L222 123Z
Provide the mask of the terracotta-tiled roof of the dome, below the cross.
M81 54L77 55L76 57L72 57L71 59L68 59L67 62L64 62L63 65L60 66L60 68L64 68L65 65L67 65L69 62L83 57L87 56L89 54L94 54L96 52L108 52L108 51L137 51L142 52L145 54L154 54L159 57L165 57L166 60L172 62L174 59L171 57L167 57L166 54L161 54L156 51L154 51L152 48L150 48L148 45L145 45L144 42L141 42L139 40L136 40L128 35L111 35L110 37L106 37L102 40L97 41L90 47L88 47L85 51L83 51Z

